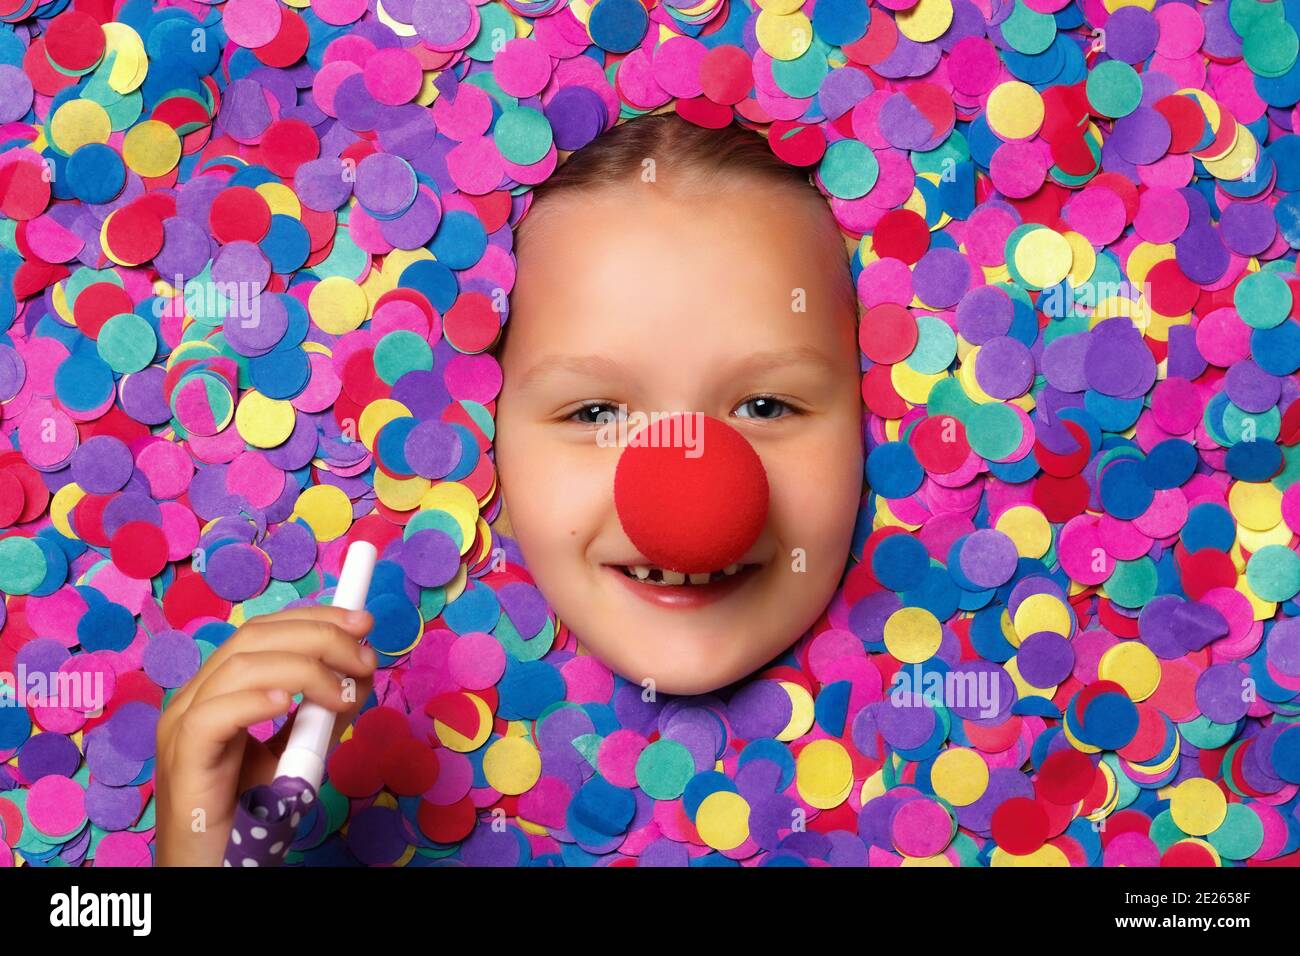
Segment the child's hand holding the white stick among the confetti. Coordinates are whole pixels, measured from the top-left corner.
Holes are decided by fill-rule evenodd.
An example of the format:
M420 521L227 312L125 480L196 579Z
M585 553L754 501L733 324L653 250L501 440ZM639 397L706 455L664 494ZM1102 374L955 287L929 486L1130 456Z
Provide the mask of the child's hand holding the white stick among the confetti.
M338 713L338 740L370 695L376 657L358 640L372 624L326 606L254 618L177 691L157 724L156 865L221 865L235 801L274 777L292 722L265 743L247 728L286 713L294 693ZM355 696L333 671L356 679Z

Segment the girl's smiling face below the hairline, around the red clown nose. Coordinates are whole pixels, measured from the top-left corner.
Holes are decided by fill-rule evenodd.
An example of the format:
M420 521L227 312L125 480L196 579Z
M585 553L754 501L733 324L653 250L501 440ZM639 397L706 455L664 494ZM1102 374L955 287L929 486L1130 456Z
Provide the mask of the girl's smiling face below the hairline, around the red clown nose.
M798 640L849 554L861 367L845 256L816 219L829 213L788 190L651 183L560 194L546 213L517 250L500 356L497 466L515 538L611 670L664 693L724 687ZM690 584L624 572L651 562L615 512L623 449L597 438L620 405L712 415L758 453L768 515L738 587L702 602Z

